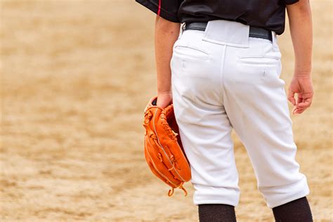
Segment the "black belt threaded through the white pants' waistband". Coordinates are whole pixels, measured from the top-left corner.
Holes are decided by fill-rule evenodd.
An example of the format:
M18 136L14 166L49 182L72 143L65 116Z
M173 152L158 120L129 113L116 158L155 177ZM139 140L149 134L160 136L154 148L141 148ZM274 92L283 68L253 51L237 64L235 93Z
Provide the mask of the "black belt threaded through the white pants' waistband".
M207 22L190 22L185 23L185 30L200 30L204 31L206 29ZM268 39L272 41L272 32L265 30L260 27L249 27L249 37Z

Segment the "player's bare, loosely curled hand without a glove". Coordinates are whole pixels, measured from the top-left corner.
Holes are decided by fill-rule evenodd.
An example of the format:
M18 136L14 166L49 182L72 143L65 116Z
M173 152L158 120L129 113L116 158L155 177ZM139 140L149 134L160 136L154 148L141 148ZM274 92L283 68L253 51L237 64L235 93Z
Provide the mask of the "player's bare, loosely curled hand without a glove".
M297 98L295 96L297 95ZM289 86L288 91L288 100L294 109L292 110L293 114L301 114L308 107L311 106L313 99L313 84L311 80L311 75L297 75L294 74L292 82Z

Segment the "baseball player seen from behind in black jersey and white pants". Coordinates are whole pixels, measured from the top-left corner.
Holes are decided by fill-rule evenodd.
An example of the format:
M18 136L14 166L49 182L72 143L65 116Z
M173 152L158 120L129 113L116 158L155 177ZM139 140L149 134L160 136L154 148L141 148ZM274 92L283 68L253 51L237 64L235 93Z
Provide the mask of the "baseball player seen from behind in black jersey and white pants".
M313 221L287 106L301 114L313 99L308 0L136 1L157 14L157 105L174 103L200 221L236 221L232 129L275 221ZM277 41L286 8L295 55L288 96Z

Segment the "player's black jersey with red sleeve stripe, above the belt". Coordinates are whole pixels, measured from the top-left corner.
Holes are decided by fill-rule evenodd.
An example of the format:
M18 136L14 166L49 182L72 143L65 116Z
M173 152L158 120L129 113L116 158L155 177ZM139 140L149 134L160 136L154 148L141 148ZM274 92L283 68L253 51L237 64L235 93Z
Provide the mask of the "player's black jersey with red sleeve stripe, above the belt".
M171 22L232 20L282 34L285 6L299 0L136 0Z

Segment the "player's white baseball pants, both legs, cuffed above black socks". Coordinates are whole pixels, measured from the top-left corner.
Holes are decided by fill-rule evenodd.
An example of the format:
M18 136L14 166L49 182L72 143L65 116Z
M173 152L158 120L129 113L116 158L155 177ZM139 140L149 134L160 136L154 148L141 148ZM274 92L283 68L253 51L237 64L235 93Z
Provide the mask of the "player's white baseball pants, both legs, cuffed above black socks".
M273 208L308 195L280 79L280 50L249 37L249 26L212 20L181 30L171 58L174 112L192 171L194 204L237 206L238 174L230 132L251 159L257 186Z

